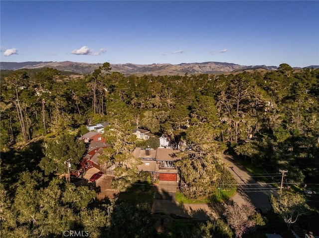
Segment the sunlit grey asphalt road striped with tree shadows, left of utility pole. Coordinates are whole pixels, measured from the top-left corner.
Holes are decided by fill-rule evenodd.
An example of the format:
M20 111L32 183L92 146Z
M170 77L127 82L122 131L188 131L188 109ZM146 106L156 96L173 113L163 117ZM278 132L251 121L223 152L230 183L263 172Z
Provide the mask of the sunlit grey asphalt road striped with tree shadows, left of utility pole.
M237 165L234 159L229 155L223 155L223 161L226 163L226 167L233 174L234 178L238 182L239 189L237 194L232 200L238 204L242 204L245 201L251 201L252 204L266 213L271 209L269 203L270 194L276 194L277 188L274 188L271 184L265 184L264 182L257 182L251 175L240 165Z

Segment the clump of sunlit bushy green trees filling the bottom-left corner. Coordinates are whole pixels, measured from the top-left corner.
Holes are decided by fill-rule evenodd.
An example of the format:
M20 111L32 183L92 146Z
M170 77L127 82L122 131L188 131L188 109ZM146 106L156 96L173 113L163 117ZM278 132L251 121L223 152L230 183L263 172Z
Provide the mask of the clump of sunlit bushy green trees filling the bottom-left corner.
M23 231L26 237L61 237L63 231L78 228L77 212L87 209L95 197L95 192L87 187L76 188L59 178L47 184L42 174L23 172L11 209L11 201L6 200L8 206L2 205L2 235L14 237ZM15 222L7 217L9 214L16 218Z

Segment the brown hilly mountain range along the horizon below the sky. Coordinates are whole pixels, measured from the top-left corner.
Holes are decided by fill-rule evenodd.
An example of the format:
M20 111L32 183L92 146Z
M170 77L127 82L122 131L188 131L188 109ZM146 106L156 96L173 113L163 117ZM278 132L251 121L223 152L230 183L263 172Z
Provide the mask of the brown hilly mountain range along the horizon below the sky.
M63 62L1 62L0 70L38 69L53 68L60 71L70 71L80 74L91 74L102 64L78 63L71 61ZM111 64L112 72L119 72L124 75L184 75L184 74L220 74L236 73L242 71L268 71L276 70L277 66L242 66L232 63L203 62L203 63L182 63L172 64ZM306 68L319 68L319 66L309 66ZM301 69L301 68L296 68Z

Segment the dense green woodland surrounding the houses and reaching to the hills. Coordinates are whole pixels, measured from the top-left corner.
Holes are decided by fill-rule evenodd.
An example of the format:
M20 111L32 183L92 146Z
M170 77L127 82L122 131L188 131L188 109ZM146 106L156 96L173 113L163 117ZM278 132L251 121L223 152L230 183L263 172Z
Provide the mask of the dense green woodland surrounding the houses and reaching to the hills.
M156 236L148 204L97 202L96 189L59 177L64 161L72 158L75 168L85 153L76 139L85 125L103 121L113 147L101 159L132 163L137 126L185 149L177 166L189 198L232 183L220 162L226 150L270 171L288 169L288 183L319 183L319 69L282 64L266 73L143 77L110 70L105 63L78 77L48 68L1 71L2 236L60 237L71 229ZM118 175L119 190L144 178L134 168ZM123 229L122 220L133 217L134 227ZM213 234L215 223L198 226L194 237Z

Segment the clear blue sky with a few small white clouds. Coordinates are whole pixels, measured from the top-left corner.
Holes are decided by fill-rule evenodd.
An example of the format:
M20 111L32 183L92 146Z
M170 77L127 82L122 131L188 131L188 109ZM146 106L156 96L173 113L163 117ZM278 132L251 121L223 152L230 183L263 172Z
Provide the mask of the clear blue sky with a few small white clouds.
M319 1L0 1L2 62L319 65Z

